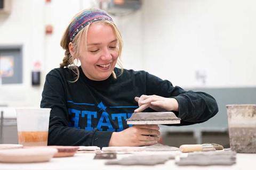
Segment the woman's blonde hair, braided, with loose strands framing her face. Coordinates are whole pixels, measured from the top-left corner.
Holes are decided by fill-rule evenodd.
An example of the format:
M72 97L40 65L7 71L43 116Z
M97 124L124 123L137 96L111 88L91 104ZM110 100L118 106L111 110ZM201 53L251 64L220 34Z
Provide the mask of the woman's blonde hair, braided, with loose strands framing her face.
M80 13L78 13L77 15L79 15L79 14ZM73 18L73 20L74 20L74 18ZM71 22L69 23L69 25L71 24ZM116 27L116 24L111 22L111 21L100 20L100 21L95 21L95 23L96 22L101 22L101 23L105 23L107 25L110 25L113 28L113 30L114 30L114 33L115 33L115 36L116 36L116 39L117 39L117 49L118 49L117 65L119 67L121 67L121 73L118 75L118 76L120 76L123 73L123 66L122 66L122 62L121 62L121 58L120 58L121 57L121 53L122 53L122 47L123 47L123 40L122 40L121 33L118 30L118 28ZM92 23L94 23L94 22L92 22ZM84 38L85 42L87 41L87 32L88 32L88 29L89 29L89 27L90 27L90 25L92 23L86 25L86 27L84 27L81 31L79 31L77 33L77 35L75 36L75 38L71 41L71 43L74 46L74 56L72 56L70 51L69 51L69 43L70 43L69 36L68 36L69 26L67 27L67 29L65 30L65 32L64 32L64 34L63 34L63 36L61 38L60 46L63 49L65 49L65 56L64 56L64 58L62 60L62 63L60 63L60 67L61 68L68 67L68 69L73 71L75 73L75 75L76 75L75 76L75 80L74 81L70 81L70 82L76 82L79 79L79 74L80 73L79 73L77 64L75 64L75 60L79 56L79 47L80 47L80 45L82 43L82 39ZM85 43L85 48L87 48L86 47L86 43ZM115 79L117 78L116 73L114 72L114 70L112 72L112 76Z

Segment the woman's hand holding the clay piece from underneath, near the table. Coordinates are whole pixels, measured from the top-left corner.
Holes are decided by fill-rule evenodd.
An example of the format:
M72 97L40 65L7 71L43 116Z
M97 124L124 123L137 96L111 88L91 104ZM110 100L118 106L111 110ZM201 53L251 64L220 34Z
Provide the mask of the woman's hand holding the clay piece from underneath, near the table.
M138 147L154 145L159 140L158 125L133 125L121 132L113 132L109 146Z

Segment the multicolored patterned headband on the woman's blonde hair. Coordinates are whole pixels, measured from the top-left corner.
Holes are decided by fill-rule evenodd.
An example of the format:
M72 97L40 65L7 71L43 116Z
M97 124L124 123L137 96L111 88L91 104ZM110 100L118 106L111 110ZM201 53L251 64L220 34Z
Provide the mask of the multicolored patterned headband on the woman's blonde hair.
M99 20L108 20L113 22L113 19L105 11L102 10L91 9L81 12L69 25L69 41L73 41L77 33L81 31L86 25Z

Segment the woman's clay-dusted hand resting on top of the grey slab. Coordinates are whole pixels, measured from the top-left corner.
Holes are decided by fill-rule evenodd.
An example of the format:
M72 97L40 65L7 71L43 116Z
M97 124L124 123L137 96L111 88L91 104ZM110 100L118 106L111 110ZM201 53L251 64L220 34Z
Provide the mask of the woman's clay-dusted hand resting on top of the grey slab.
M166 98L157 95L141 95L134 99L139 104L139 108L134 110L135 113L142 112L148 107L158 112L179 111L179 104L175 98Z

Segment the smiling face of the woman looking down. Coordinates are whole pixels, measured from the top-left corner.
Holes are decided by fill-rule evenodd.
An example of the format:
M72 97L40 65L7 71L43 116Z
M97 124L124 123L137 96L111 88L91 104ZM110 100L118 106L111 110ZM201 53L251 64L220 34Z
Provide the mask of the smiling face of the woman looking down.
M105 23L92 23L87 32L86 46L87 49L84 43L81 44L78 57L84 74L91 80L106 80L118 58L114 29Z

